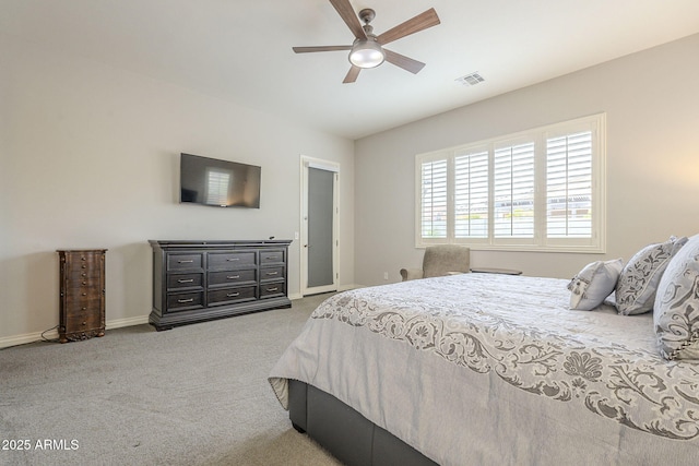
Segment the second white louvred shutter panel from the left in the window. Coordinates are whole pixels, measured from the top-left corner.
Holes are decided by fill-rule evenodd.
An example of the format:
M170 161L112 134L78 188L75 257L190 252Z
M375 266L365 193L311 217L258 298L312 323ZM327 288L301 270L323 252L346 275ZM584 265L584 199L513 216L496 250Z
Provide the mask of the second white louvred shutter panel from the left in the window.
M488 152L454 157L454 237L488 237Z

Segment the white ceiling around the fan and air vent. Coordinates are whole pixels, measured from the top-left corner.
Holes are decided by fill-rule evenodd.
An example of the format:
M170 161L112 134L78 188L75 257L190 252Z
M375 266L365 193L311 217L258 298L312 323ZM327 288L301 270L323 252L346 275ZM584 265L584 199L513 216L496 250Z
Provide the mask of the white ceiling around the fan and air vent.
M441 24L342 84L350 45L328 0L0 0L0 33L350 139L699 33L697 0L351 0L377 34L435 8ZM699 52L699 51L698 51ZM478 72L485 82L454 80Z

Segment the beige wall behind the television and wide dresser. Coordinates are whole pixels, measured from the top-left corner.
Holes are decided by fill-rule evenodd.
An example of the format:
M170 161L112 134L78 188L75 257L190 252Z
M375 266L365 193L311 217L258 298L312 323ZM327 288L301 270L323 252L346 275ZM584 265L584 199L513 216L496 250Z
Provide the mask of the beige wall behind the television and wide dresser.
M9 37L0 83L0 347L58 324L56 249L109 250L109 327L147 319L149 239L293 239L301 154L341 165L340 285L354 283L352 141ZM261 165L261 208L180 205L180 152Z

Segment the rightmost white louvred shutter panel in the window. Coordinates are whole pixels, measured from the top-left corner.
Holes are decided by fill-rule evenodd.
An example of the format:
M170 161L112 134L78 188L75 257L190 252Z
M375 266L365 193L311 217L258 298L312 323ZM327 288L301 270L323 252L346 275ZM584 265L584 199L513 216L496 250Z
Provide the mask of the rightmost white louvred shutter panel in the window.
M546 141L546 235L592 235L592 132Z

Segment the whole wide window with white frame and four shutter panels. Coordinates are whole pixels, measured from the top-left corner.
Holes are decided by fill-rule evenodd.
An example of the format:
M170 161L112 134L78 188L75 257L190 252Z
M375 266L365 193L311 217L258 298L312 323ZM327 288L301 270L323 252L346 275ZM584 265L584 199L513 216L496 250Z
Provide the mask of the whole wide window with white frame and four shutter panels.
M416 157L416 244L604 252L605 115Z

